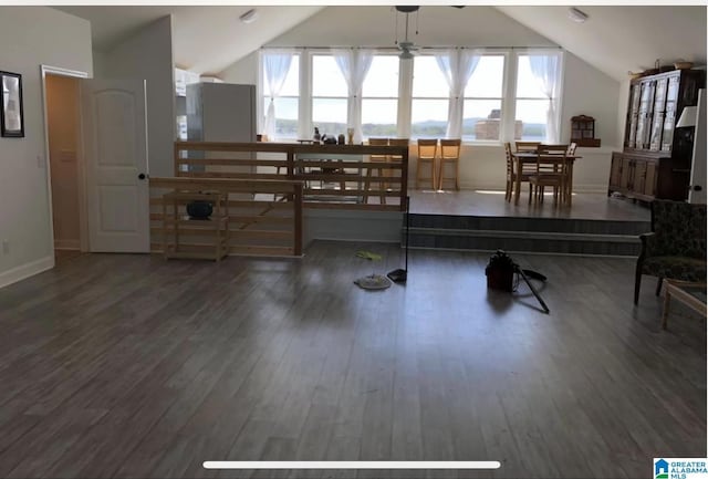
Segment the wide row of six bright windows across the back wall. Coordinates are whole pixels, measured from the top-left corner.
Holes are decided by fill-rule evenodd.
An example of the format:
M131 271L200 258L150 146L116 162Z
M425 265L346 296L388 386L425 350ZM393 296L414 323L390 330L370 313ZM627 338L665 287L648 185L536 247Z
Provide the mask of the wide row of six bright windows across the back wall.
M361 96L350 97L347 79L335 56L343 53L337 49L264 51L262 59L275 59L270 79L266 64L262 69L260 106L267 116L272 96L275 139L310 137L314 126L321 134L336 136L357 123L360 113L362 139L399 134L410 138L461 136L465 142L482 143L560 139L560 50L450 48L425 50L412 62L402 63L388 50L366 49L360 52L368 64ZM459 55L458 63L452 54ZM452 64L459 66L458 75L469 75L464 88L451 74ZM452 97L450 88L455 88ZM350 105L353 98L355 104Z

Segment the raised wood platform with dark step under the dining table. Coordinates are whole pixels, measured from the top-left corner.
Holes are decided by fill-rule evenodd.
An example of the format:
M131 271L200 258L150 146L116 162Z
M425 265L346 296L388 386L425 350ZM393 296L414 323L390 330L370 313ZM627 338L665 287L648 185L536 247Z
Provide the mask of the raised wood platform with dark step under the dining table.
M572 207L514 206L503 191L410 194L410 247L420 249L620 256L639 253L649 209L606 195L574 195Z

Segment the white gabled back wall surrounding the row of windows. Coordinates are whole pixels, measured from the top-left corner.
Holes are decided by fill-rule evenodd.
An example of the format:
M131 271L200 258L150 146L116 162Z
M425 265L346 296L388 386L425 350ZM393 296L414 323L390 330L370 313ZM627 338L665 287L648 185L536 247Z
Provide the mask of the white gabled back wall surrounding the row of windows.
M412 21L415 22L414 17ZM399 23L399 28L403 23ZM329 7L266 46L393 46L395 20L391 7ZM492 7L421 7L418 45L428 46L553 46ZM415 30L414 30L415 31ZM400 37L400 30L399 30ZM220 76L231 83L258 82L256 53L235 63ZM565 80L561 100L561 138L570 139L570 118L579 114L595 117L602 148L580 148L574 185L577 191L605 191L612 149L617 147L620 84L570 53L565 54ZM409 184L415 184L415 147L412 148ZM460 186L466 189L503 189L504 152L499 146L465 145L460 159Z

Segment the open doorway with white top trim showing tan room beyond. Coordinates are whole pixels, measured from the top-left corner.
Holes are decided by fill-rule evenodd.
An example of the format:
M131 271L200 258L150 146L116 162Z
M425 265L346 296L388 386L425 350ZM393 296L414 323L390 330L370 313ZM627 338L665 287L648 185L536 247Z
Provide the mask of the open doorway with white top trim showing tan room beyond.
M87 251L80 82L86 75L42 66L45 149L55 262Z

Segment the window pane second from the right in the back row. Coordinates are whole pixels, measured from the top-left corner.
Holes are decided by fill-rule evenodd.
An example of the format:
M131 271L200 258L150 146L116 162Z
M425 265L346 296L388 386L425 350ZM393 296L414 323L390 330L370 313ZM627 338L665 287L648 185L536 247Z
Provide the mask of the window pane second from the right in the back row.
M462 139L499 140L502 123L504 55L482 55L465 87Z

